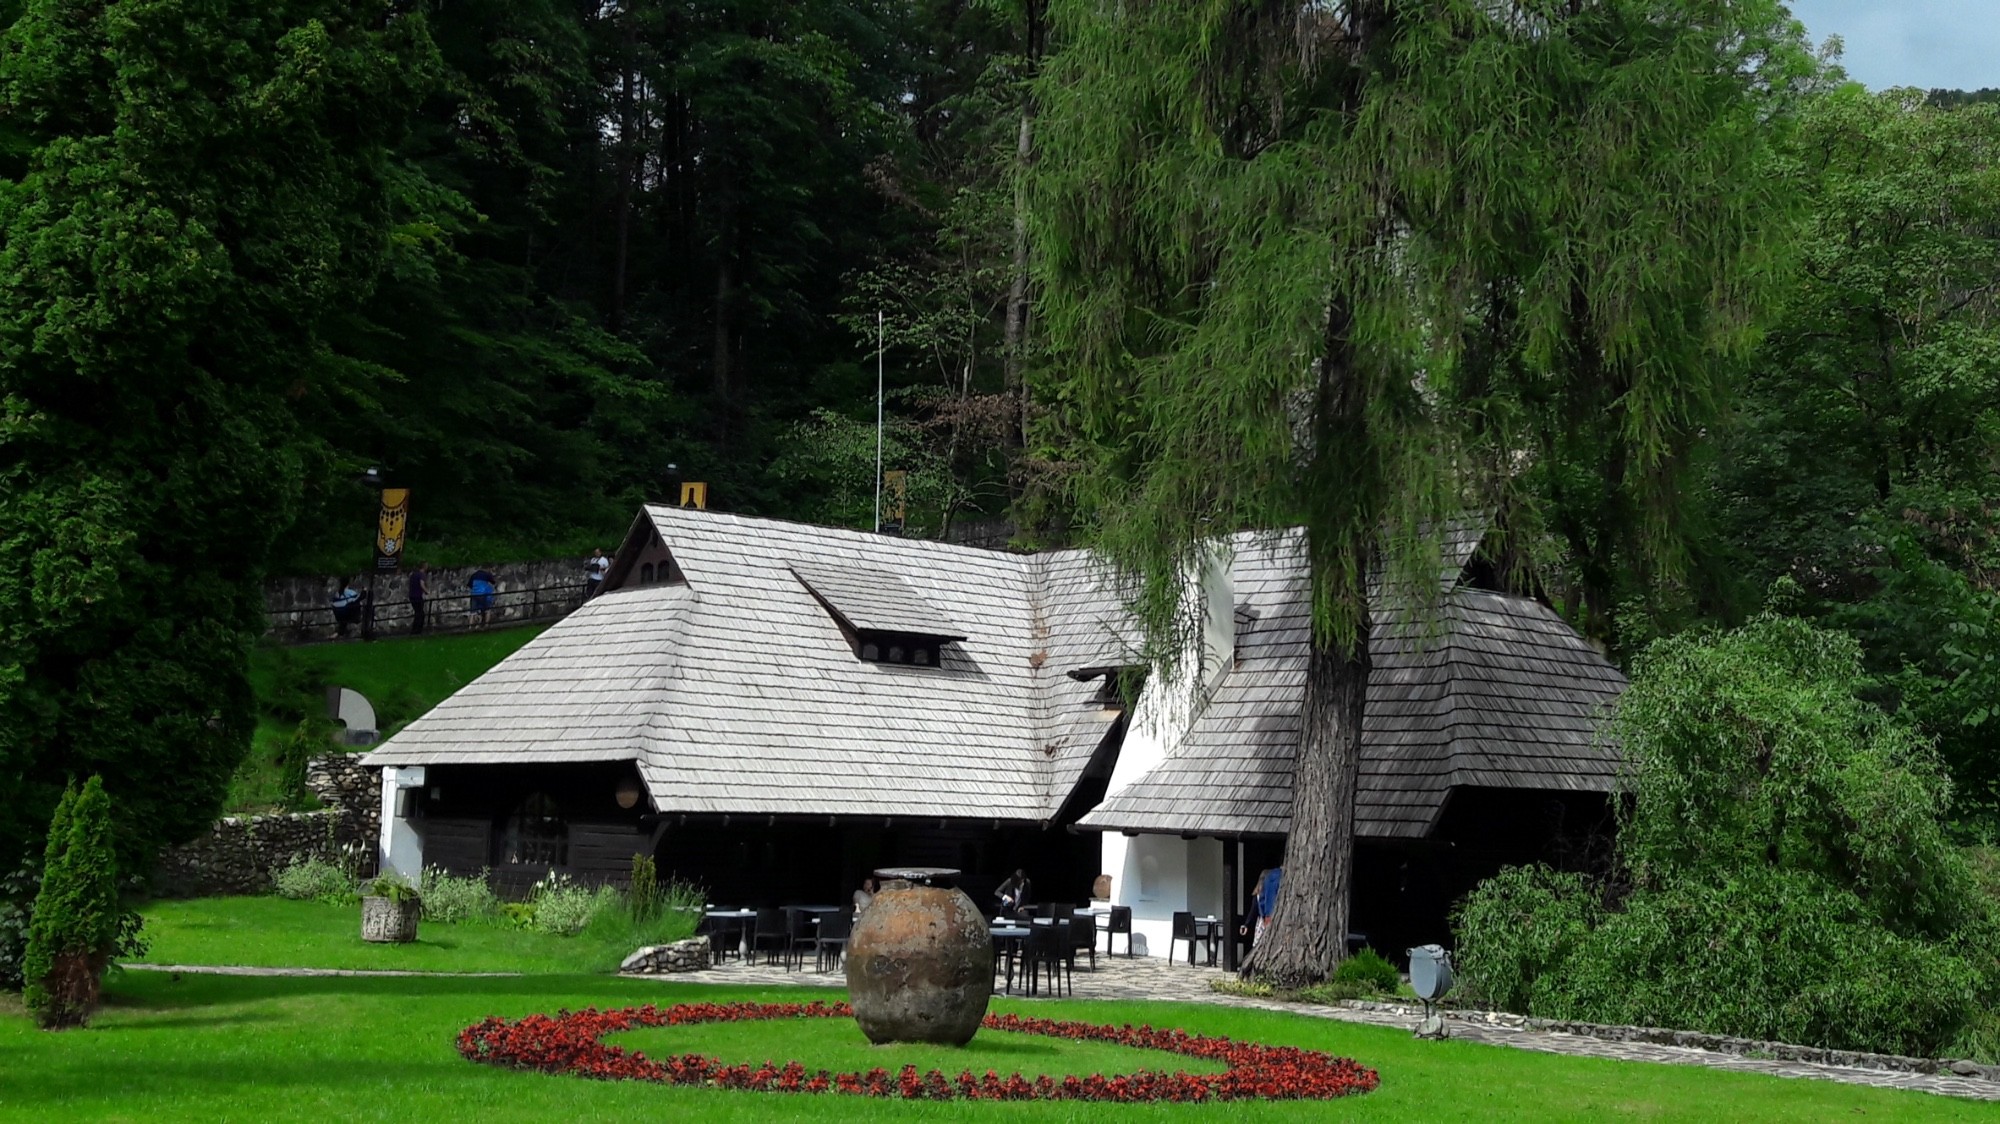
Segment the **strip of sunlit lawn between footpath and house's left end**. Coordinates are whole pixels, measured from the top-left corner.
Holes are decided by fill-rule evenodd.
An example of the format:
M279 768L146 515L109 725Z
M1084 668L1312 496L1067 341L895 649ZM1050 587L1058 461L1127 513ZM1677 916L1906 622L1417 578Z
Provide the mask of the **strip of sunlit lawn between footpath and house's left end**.
M630 944L548 936L500 922L422 922L412 944L368 944L360 906L284 898L190 898L146 906L146 964L398 968L412 972L614 972Z

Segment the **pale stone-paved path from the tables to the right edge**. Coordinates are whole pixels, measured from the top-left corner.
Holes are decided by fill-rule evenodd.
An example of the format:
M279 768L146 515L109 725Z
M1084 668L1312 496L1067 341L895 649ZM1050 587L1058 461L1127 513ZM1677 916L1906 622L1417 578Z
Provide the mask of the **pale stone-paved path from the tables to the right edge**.
M1228 976L1216 968L1190 968L1188 964L1168 964L1158 956L1140 958L1098 958L1098 968L1076 972L1076 996L1090 1000L1170 1000L1202 1002L1214 1006L1234 1006L1252 1010L1276 1010L1310 1018L1332 1018L1338 1022L1360 1022L1368 1026L1390 1026L1396 1030L1416 1030L1420 1010L1388 1004L1370 1008L1294 1004L1282 1000L1226 996L1210 990L1208 982ZM844 988L840 972L814 972L808 964L802 972L786 972L780 966L746 966L730 960L706 972L676 976L642 976L648 980L702 982L702 984L792 984ZM1036 1000L1030 1000L1036 1002ZM1912 1074L1898 1070L1874 1070L1858 1066L1824 1066L1814 1062L1786 1062L1772 1058L1748 1058L1720 1050L1696 1050L1688 1046L1664 1046L1654 1042L1610 1042L1588 1034L1560 1034L1548 1030L1528 1030L1488 1022L1480 1014L1454 1016L1450 1020L1452 1038L1464 1042L1484 1042L1488 1046L1512 1046L1516 1050L1538 1050L1544 1054L1568 1054L1576 1058L1610 1058L1618 1062L1662 1062L1672 1066L1708 1066L1712 1070L1738 1070L1746 1074L1768 1074L1778 1078L1812 1078L1844 1084L1864 1084L1878 1088L1908 1088L1940 1096L1964 1096L1974 1100L2000 1102L2000 1082L1984 1078L1964 1078L1956 1074Z

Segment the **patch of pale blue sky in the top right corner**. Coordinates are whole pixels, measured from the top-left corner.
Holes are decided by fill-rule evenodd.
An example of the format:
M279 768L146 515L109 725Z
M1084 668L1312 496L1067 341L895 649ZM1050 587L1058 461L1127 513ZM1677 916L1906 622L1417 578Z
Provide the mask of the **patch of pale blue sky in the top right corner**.
M2000 88L2000 0L1790 0L1812 42L1846 40L1842 66L1870 90Z

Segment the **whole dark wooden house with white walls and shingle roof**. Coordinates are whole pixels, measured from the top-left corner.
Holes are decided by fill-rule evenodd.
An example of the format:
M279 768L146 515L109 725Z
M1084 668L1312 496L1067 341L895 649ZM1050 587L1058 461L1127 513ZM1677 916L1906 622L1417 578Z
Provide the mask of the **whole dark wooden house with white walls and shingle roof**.
M646 508L602 594L368 756L384 864L624 878L636 852L732 904L842 900L882 864L1112 874L1142 948L1276 864L1304 676L1290 534L1190 582L1200 682L1146 682L1098 562ZM1382 624L1356 926L1438 940L1498 862L1602 838L1618 672L1454 536L1432 628ZM1384 614L1394 616L1394 614Z

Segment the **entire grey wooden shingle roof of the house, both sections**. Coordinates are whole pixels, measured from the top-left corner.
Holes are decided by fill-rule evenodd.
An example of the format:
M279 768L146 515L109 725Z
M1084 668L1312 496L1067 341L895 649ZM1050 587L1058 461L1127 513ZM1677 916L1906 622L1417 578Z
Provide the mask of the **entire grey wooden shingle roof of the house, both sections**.
M1048 820L1122 730L1098 682L1140 630L1086 552L646 508L684 584L598 594L368 764L634 760L660 812ZM1476 530L1448 538L1456 582ZM1238 536L1238 662L1166 762L1082 824L1282 832L1308 642L1296 536ZM616 574L616 570L614 570ZM824 598L824 604L822 604ZM838 614L838 618L836 618ZM858 660L856 628L962 636ZM946 632L948 628L948 632ZM1536 602L1454 588L1436 636L1378 626L1360 828L1420 836L1452 786L1610 788L1592 742L1624 678Z

